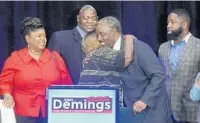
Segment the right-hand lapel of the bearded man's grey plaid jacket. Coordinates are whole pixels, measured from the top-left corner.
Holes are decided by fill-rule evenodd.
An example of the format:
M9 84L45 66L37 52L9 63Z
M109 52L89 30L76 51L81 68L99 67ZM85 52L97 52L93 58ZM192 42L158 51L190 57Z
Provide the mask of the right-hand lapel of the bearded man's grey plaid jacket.
M193 39L194 39L194 37L191 35L189 40L188 40L188 42L186 43L186 46L185 46L181 56L180 56L177 68L176 68L174 73L177 73L180 70L180 68L182 67L184 61L189 56L192 48L195 46L196 43L195 43L195 40L193 40Z

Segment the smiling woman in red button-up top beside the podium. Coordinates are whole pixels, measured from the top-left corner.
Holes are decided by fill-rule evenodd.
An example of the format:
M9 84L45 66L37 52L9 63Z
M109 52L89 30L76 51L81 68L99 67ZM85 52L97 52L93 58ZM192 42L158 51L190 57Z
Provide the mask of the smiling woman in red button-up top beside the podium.
M41 123L46 116L45 90L49 85L71 85L61 56L49 51L46 33L39 18L27 17L20 25L28 46L14 51L0 75L3 104L13 107L17 123Z

